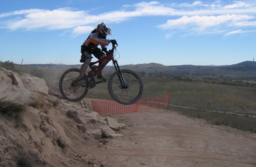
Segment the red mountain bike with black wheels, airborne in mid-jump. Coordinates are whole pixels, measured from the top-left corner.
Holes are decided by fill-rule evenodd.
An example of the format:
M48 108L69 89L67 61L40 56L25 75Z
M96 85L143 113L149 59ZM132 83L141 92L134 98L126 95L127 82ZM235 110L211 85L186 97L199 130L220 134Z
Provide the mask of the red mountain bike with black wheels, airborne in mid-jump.
M117 44L112 45L112 49L108 51L107 56L90 63L91 71L87 75L84 74L83 83L77 80L80 73L79 68L70 68L65 71L59 80L61 95L71 102L82 100L89 89L94 88L96 84L105 82L105 80L96 81L95 77L112 60L115 71L108 80L108 90L111 97L120 104L136 103L143 93L142 79L136 72L119 68L117 60L114 59L114 51L116 51L117 46ZM99 63L98 66L97 63Z

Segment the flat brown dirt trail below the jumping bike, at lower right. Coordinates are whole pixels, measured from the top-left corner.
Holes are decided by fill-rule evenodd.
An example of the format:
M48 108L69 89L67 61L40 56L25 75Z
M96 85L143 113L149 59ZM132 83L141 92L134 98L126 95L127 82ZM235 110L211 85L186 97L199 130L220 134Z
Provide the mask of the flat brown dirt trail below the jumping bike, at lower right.
M128 127L94 150L106 167L256 166L256 134L164 110L111 117Z

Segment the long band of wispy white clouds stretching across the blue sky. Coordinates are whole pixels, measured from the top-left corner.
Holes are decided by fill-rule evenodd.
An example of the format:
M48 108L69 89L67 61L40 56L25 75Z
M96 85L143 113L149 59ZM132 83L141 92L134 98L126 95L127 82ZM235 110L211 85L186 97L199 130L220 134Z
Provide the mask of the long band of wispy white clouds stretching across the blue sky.
M169 19L158 27L163 30L198 33L222 32L235 27L256 26L256 2L233 1L223 5L220 0L206 3L199 0L194 3L161 4L158 1L140 2L123 5L115 10L98 15L89 11L62 8L55 10L29 9L0 14L0 28L17 31L63 30L72 31L73 36L91 30L91 24L100 22L119 23L134 17L168 16ZM227 28L228 27L228 28ZM215 28L214 30L212 28ZM241 28L240 28L241 29ZM236 31L233 29L233 31Z

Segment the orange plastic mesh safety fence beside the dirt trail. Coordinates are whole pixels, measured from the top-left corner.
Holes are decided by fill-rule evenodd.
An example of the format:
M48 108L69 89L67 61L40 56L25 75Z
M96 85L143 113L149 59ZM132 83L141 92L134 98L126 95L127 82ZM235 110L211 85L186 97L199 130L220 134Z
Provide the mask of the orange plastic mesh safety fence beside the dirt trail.
M91 100L93 109L99 114L133 113L148 111L159 108L167 108L171 94L159 95L155 97L140 99L134 104L123 105L116 101Z

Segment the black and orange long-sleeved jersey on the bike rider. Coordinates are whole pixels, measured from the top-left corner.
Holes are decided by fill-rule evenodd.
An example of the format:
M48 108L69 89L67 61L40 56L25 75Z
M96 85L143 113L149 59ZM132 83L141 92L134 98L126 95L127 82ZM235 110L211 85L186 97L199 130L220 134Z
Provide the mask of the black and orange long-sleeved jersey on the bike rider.
M96 29L91 32L87 40L83 44L90 49L95 49L98 45L101 45L101 48L105 48L110 43L108 39L101 39L97 36Z

